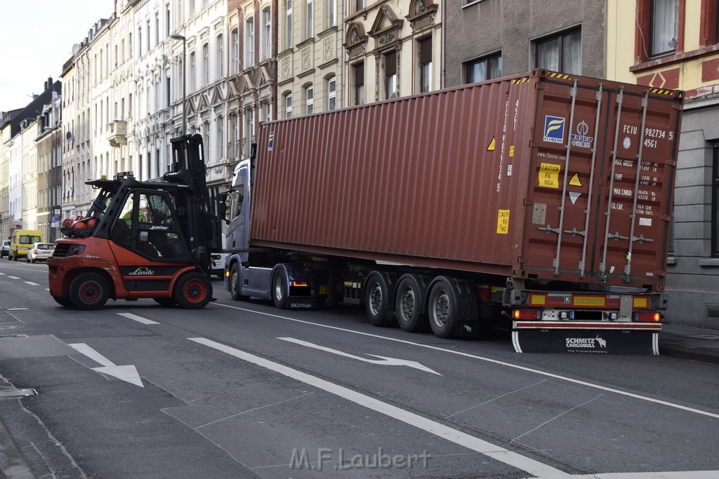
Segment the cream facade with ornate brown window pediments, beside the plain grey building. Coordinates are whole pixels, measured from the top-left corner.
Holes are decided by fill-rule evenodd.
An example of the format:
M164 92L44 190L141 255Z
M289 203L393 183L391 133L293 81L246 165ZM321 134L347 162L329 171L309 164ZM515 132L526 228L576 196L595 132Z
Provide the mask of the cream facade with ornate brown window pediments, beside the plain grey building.
M342 44L348 105L442 88L443 11L458 3L348 1Z

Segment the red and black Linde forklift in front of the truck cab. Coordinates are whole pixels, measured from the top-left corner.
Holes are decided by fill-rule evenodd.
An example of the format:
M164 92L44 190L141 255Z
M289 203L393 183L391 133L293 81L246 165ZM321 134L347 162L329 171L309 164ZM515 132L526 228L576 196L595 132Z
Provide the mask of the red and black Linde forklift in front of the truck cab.
M108 299L151 298L199 309L214 300L210 255L221 251L224 196L206 185L201 135L170 143L164 181L123 172L86 182L99 193L84 218L63 223L47 260L56 302L98 310Z

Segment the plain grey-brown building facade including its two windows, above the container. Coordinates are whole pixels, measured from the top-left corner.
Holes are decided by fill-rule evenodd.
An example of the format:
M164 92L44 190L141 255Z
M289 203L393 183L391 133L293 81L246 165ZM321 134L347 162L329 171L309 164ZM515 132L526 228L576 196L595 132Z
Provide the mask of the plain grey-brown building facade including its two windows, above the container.
M447 86L533 68L605 76L604 1L457 0L445 9Z

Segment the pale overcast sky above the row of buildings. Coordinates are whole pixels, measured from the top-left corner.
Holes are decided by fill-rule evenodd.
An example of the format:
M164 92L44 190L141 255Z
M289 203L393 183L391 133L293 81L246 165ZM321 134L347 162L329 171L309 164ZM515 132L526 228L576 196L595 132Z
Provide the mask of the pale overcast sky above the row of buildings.
M24 108L60 79L73 45L114 12L114 0L0 0L0 111Z

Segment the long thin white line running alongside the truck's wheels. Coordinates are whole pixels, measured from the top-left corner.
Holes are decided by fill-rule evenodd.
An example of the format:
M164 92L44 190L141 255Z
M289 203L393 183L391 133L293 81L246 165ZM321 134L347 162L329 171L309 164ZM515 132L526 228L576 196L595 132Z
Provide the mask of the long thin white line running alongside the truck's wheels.
M650 397L648 397L648 396L641 396L641 395L639 395L639 394L628 393L628 392L626 392L626 391L621 391L620 389L613 389L613 388L608 388L608 387L606 387L606 386L600 386L599 384L587 383L587 381L580 381L579 379L572 379L572 378L568 378L567 376L559 376L559 374L546 373L545 371L539 371L538 369L527 368L526 366L519 366L519 365L517 365L517 364L507 363L507 362L505 362L505 361L498 361L498 360L496 360L496 359L485 358L485 357L483 357L483 356L478 356L478 355L470 354L470 353L462 353L462 351L454 351L454 350L451 350L451 349L439 348L438 346L431 346L431 345L421 344L421 343L413 343L412 341L403 340L403 339L388 338L388 337L386 337L386 336L373 335L373 334L371 334L370 332L361 332L361 331L348 330L348 329L345 329L344 327L336 327L336 326L322 325L322 324L319 324L319 323L317 323L317 322L304 321L304 320L296 320L296 319L294 319L294 318L292 318L292 317L286 317L286 316L280 316L280 315L273 315L272 313L268 313L268 312L248 310L247 308L237 307L237 306L230 306L229 304L219 304L219 303L215 303L215 304L216 304L217 306L229 307L229 308L232 308L233 310L253 312L253 313L257 314L257 315L265 315L265 316L270 316L270 317L278 317L278 318L280 318L280 319L282 319L282 320L289 320L289 321L294 321L294 322L301 322L301 323L306 324L306 325L312 325L312 326L318 326L318 327L326 327L327 329L331 329L331 330L338 330L338 331L344 331L344 332L352 332L353 334L362 335L362 336L369 336L370 338L379 338L379 339L384 339L384 340L388 340L388 341L394 341L395 343L409 344L409 345L413 345L413 346L418 346L419 348L426 348L426 349L432 349L432 350L436 350L436 351L441 351L442 353L456 354L456 355L464 356L465 358L479 359L480 361L487 361L487 363L499 364L500 366L507 366L508 368L519 369L519 370L521 370L521 371L527 371L528 373L540 374L541 376L547 376L547 377L549 377L549 378L561 379L562 381L568 381L568 382L570 382L570 383L581 384L582 386L587 386L587 387L595 388L595 389L601 389L602 391L608 391L608 392L615 393L615 394L621 394L621 395L623 395L623 396L629 396L629 397L632 397L632 398L634 398L634 399L641 399L642 401L649 401L649 402L653 402L653 403L656 403L656 404L661 404L661 405L663 405L663 406L674 407L674 408L677 408L677 409L682 409L683 411L689 411L689 412L693 412L693 413L695 413L695 414L702 414L703 416L708 416L708 417L713 417L713 418L715 418L715 419L719 419L719 414L714 414L714 413L711 413L711 412L702 411L701 409L694 409L694 408L692 408L692 407L682 406L681 404L674 404L674 403L667 402L667 401L661 401L661 399L654 399L654 398L650 398Z

